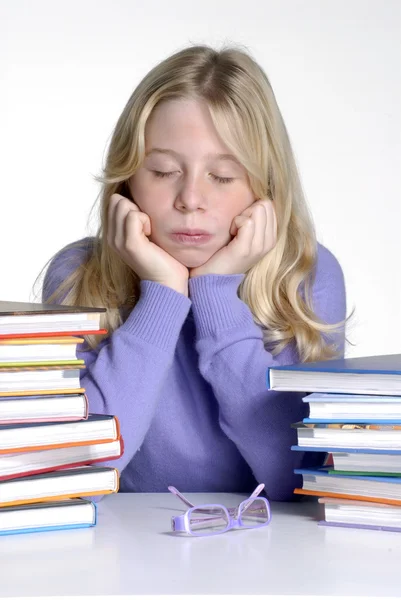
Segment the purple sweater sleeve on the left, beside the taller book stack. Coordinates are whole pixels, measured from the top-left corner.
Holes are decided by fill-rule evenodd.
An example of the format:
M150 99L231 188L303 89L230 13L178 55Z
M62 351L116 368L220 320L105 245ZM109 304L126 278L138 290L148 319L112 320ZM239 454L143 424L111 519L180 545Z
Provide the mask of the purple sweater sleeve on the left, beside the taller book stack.
M82 257L81 257L82 258ZM43 301L68 275L66 265L77 266L79 258L66 250L50 264ZM169 287L141 282L141 295L127 320L95 350L79 347L85 361L81 385L86 390L89 411L115 415L120 422L124 454L104 466L122 471L140 448L157 409L190 300Z

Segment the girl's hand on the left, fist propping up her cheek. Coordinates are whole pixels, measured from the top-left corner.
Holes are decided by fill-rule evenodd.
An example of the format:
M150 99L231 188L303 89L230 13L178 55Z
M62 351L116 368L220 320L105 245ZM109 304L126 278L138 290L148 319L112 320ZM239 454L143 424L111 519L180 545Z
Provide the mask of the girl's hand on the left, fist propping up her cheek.
M188 296L187 267L151 242L149 216L120 194L110 198L107 242L140 279L171 287Z

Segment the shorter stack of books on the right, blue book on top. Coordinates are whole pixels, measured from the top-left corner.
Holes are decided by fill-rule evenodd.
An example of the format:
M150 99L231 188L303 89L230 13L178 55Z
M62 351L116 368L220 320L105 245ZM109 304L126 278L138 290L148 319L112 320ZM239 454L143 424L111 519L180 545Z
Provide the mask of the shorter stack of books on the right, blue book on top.
M295 493L324 507L319 524L401 531L401 354L275 367L267 383L311 392L292 450L328 458L295 471L303 478Z

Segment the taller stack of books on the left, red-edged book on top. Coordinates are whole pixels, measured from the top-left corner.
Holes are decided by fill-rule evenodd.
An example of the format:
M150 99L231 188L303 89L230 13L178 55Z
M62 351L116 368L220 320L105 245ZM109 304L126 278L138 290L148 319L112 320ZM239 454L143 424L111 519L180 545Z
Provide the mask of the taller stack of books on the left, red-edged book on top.
M81 335L105 309L0 302L0 535L90 527L85 496L118 491L115 416L88 414Z

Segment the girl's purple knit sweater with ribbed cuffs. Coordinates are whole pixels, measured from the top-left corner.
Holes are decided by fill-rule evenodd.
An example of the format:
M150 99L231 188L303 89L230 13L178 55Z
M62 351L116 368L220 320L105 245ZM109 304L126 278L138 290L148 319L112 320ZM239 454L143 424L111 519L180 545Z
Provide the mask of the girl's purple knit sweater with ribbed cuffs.
M43 301L91 251L87 238L67 247L46 273ZM297 362L293 348L274 357L262 331L238 298L243 275L190 279L189 298L141 282L141 296L96 351L81 351L81 384L92 413L116 415L125 452L110 462L122 492L250 492L265 483L271 500L288 500L300 486L295 467L321 454L291 452L291 423L306 416L305 394L266 389L266 371ZM316 314L327 323L345 318L341 267L318 247L313 291ZM343 351L344 336L336 342ZM318 458L319 457L319 458ZM108 463L103 463L107 465Z

